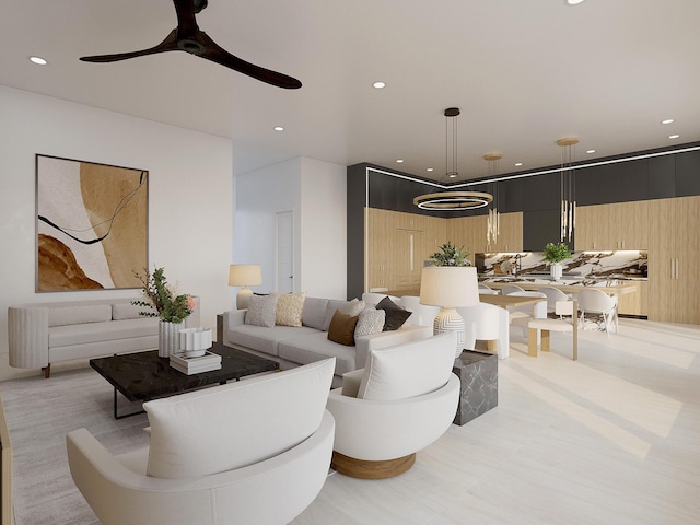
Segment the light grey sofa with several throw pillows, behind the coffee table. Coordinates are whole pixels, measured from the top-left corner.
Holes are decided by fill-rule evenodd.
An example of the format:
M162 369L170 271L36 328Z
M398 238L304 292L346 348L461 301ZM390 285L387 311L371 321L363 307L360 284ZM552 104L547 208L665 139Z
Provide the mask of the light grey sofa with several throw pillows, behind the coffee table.
M371 310L374 310L374 301L385 296L366 298L372 302L368 301L363 302L363 304L358 304L360 301L357 299L353 301L306 296L300 299L302 296L303 294L279 295L279 301L282 303L298 300L296 306L298 308L301 307L301 315L296 319L287 318L282 320L295 326L281 325L279 323L280 310L288 310L281 305L282 303L278 305L277 315L272 316L272 322L267 323L265 326L249 324L249 318L246 320L246 316L249 315L248 310L225 312L223 314L223 343L256 355L272 359L280 363L280 369L282 370L326 358L336 358L334 386L338 386L342 383L342 374L364 366L370 350L424 339L433 334L432 320L430 326L415 324L411 311L402 308L398 298L389 298L396 305L396 310L405 310L402 315L404 323L400 326L397 326L398 323L393 324L388 328L394 329L386 331L380 327L378 332L353 337L349 341L350 343L339 343L329 339L330 325L334 322L336 312L347 312L352 306L370 306ZM254 295L250 301L250 304L255 305L256 301L265 300ZM300 311L298 310L299 313ZM389 317L392 316L389 315ZM293 320L296 320L296 323ZM387 323L386 317L384 323Z

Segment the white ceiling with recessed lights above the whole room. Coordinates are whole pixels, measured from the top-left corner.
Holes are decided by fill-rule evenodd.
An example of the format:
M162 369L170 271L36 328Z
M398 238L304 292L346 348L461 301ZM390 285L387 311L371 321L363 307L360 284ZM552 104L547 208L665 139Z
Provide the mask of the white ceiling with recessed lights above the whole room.
M462 179L489 152L502 174L557 165L562 137L576 160L700 141L698 0L209 0L200 28L295 91L186 52L78 60L160 43L171 0L0 5L0 84L231 138L236 173L303 155L441 178L451 106Z

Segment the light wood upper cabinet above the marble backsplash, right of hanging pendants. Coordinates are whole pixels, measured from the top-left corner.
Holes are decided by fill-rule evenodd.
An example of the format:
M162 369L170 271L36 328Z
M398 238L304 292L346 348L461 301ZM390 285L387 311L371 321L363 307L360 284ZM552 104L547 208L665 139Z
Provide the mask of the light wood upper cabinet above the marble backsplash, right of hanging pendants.
M576 208L574 249L646 249L651 202L617 202Z

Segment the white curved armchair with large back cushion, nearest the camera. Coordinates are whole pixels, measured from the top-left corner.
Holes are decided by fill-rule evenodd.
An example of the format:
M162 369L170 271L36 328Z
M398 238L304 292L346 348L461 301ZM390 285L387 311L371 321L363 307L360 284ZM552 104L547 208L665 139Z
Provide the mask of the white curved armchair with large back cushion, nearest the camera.
M145 402L149 446L118 456L72 431L75 486L104 525L287 524L328 476L334 368L328 359Z

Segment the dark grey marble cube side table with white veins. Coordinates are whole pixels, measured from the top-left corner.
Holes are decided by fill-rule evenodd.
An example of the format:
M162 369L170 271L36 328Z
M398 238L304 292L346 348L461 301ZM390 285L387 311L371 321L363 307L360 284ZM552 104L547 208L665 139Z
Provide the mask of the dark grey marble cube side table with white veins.
M462 393L454 424L463 425L499 405L499 359L495 354L465 350L452 371Z

